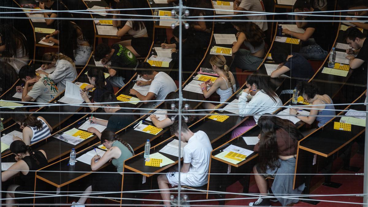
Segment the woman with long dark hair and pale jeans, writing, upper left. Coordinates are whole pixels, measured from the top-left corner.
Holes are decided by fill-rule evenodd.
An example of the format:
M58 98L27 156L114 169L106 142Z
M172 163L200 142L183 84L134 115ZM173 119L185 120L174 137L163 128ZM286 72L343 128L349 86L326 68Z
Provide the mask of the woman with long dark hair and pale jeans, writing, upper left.
M54 38L58 36L58 39ZM70 57L78 66L85 66L92 53L91 44L84 38L82 29L72 21L60 21L58 29L46 35L43 42L59 45L60 53Z

